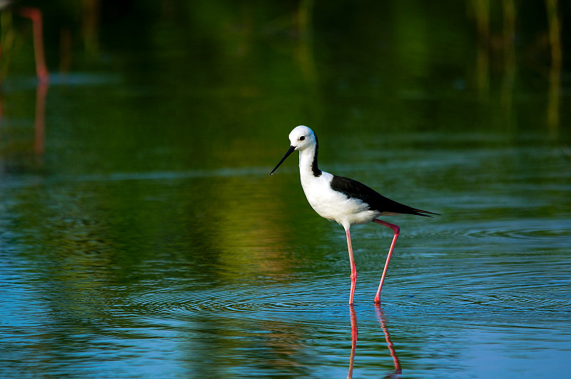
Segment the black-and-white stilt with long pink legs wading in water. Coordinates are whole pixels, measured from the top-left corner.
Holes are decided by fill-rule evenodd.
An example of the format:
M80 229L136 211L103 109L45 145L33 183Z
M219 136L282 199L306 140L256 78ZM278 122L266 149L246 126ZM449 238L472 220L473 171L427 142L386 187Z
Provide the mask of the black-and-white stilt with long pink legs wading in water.
M320 170L318 167L319 144L317 135L305 125L299 125L293 128L289 134L289 140L290 147L288 151L285 152L285 155L283 155L278 165L270 172L270 175L273 175L283 161L294 151L299 152L301 187L303 187L303 192L309 204L321 217L337 222L345 229L351 267L350 305L353 304L355 285L357 283L357 270L355 269L355 259L353 258L350 228L353 225L375 222L376 224L393 229L393 242L390 244L383 275L380 278L377 294L375 294L375 303L380 303L380 291L383 288L390 256L393 254L395 243L400 234L400 227L378 219L378 217L396 214L414 214L416 216L432 217L430 216L431 214L440 214L395 202L370 187L363 185L361 182Z

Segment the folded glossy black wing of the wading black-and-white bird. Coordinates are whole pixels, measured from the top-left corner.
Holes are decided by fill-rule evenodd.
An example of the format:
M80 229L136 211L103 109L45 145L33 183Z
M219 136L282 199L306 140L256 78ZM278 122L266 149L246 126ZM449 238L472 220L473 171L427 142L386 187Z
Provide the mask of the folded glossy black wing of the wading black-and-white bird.
M428 214L438 214L409 207L408 205L400 204L400 202L395 202L388 197L384 197L372 188L363 185L363 183L349 179L348 177L338 177L337 175L333 175L331 188L345 194L347 197L355 197L363 200L363 202L369 204L370 209L378 212L415 214L417 216L425 217L432 217Z

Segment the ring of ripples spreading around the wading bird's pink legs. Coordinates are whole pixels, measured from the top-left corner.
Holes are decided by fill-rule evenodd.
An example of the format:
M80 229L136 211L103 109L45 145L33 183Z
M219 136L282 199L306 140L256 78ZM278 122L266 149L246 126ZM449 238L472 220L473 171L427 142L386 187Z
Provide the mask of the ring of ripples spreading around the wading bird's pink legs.
M395 309L405 317L422 314L426 318L450 321L512 322L529 317L535 317L537 321L566 320L571 311L569 283L546 279L530 281L531 275L527 272L514 274L513 270L492 273L482 269L480 272L473 267L456 272L437 268L430 271L430 275L425 273L393 280L391 286L383 290L383 306ZM456 284L451 286L451 281ZM131 314L161 318L186 319L188 316L219 314L224 318L246 317L258 321L303 319L304 323L323 325L334 318L347 316L346 284L347 278L339 275L285 286L243 283L201 291L174 286L128 296L122 308ZM375 283L369 284L364 275L358 284L355 306L373 306Z

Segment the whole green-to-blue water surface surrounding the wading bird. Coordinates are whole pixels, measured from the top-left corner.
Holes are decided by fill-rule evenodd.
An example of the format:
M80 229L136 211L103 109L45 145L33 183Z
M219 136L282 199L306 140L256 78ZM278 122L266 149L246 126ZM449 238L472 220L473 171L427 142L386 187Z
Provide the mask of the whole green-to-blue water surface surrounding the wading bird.
M568 376L568 71L558 87L522 58L532 27L482 71L470 2L401 3L316 5L303 27L303 6L214 1L214 20L165 1L103 17L94 58L46 86L16 65L22 32L1 93L0 376ZM380 306L390 229L353 229L350 307L343 228L295 156L268 175L300 124L323 170L442 214L387 218Z

